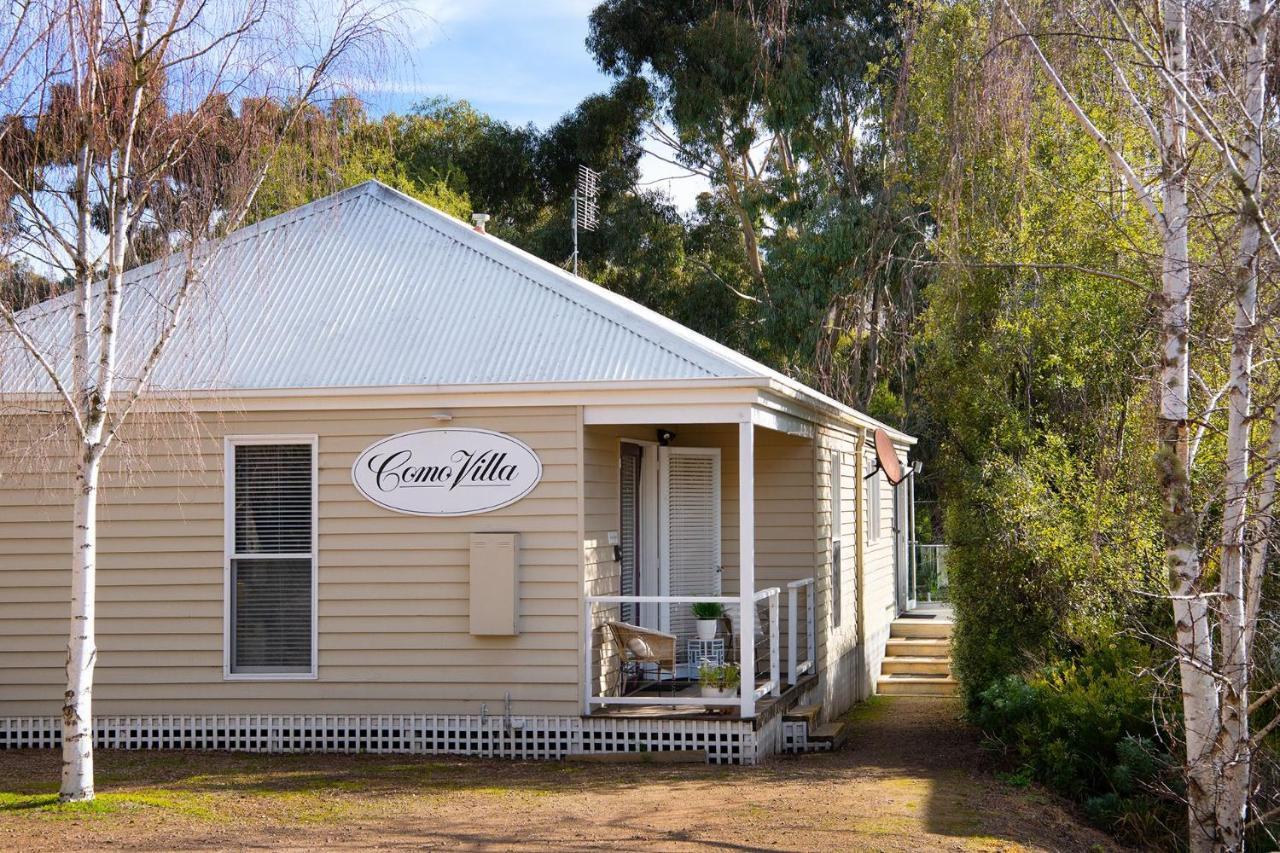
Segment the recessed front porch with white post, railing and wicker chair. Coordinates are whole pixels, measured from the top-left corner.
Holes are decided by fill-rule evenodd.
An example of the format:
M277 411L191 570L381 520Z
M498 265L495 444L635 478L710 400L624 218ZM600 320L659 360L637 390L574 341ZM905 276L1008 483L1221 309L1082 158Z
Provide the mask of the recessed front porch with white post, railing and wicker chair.
M763 725L818 683L815 429L728 415L584 430L586 716ZM701 630L695 605L718 611ZM737 688L705 695L708 675Z

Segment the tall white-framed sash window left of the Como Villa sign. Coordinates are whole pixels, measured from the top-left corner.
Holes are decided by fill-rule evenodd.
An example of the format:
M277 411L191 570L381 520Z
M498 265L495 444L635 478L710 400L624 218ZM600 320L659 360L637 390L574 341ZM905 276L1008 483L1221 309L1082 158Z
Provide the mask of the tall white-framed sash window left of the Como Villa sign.
M225 439L223 674L316 678L316 437Z

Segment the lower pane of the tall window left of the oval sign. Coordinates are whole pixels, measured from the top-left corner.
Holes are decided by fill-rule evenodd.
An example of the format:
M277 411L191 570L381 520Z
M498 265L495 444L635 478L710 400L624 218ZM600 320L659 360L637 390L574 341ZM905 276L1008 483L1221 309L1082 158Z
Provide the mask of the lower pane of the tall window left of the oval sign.
M232 671L311 671L311 560L232 561Z

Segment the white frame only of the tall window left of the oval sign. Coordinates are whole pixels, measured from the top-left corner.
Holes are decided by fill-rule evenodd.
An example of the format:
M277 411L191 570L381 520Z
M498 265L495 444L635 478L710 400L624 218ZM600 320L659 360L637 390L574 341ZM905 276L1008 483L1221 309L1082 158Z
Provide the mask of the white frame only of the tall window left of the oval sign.
M236 553L236 448L243 444L308 444L311 447L311 552L271 555L278 558L311 558L311 670L307 672L232 671L232 560L261 557ZM223 438L223 680L225 681L314 681L319 678L320 640L320 447L314 434L227 435Z

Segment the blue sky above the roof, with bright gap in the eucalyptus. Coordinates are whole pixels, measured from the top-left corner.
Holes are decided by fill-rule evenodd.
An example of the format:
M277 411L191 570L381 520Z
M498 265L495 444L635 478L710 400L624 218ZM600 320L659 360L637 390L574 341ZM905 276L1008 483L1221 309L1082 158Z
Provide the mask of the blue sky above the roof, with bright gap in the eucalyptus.
M613 81L586 50L588 15L599 0L412 0L406 55L369 91L372 113L404 111L429 97L470 101L512 124L552 124ZM657 158L643 181L685 210L705 188Z

